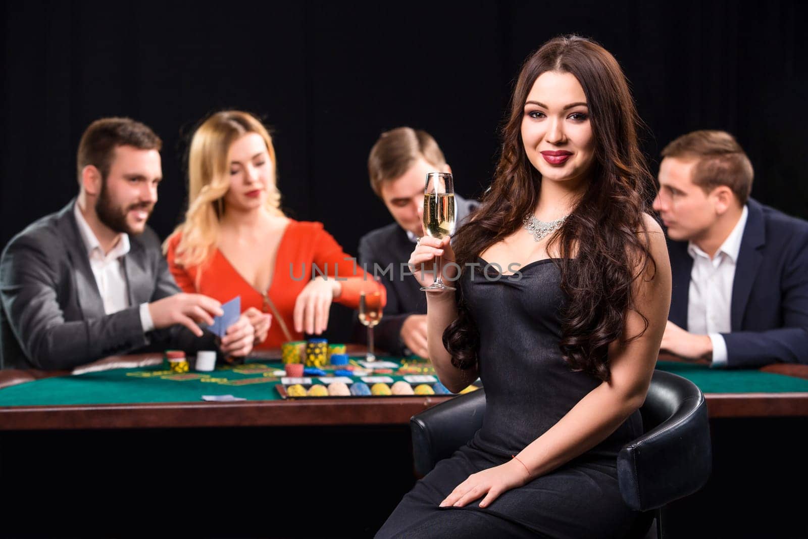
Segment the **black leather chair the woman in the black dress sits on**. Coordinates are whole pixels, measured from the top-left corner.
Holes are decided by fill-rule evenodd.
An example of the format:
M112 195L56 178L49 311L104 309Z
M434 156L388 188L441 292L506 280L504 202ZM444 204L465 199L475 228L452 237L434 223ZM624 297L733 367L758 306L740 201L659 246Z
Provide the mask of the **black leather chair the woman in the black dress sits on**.
M477 390L413 416L416 472L426 475L471 440L485 410L486 395ZM655 371L640 413L645 433L617 455L617 478L625 503L646 513L642 529L632 537L662 539L660 508L698 491L709 478L713 456L707 405L692 381Z

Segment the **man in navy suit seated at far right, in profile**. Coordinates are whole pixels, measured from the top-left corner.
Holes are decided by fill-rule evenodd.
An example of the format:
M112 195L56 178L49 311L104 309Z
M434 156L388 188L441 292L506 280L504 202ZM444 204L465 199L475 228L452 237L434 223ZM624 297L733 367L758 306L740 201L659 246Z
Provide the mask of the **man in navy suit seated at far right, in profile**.
M688 133L662 154L654 209L673 274L663 352L808 364L808 223L749 198L751 162L729 133Z

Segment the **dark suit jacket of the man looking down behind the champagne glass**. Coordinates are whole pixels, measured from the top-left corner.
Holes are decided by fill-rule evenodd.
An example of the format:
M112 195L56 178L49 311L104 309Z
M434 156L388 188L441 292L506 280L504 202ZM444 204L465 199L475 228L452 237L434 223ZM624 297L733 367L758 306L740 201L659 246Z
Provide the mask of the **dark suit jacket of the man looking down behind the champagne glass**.
M465 200L455 194L458 227L477 208L478 203ZM378 264L381 271L393 264L392 275L385 273L381 282L387 288L387 304L381 322L374 329L373 337L379 347L396 356L407 356L400 338L402 324L410 314L427 314L427 297L421 292L421 285L413 276L402 275L401 264L406 265L410 259L415 243L407 238L406 231L398 223L392 223L381 229L365 234L359 241L359 263L365 264L368 272L373 272L373 264ZM355 318L356 319L356 318ZM363 326L356 326L354 335L360 343L367 339Z

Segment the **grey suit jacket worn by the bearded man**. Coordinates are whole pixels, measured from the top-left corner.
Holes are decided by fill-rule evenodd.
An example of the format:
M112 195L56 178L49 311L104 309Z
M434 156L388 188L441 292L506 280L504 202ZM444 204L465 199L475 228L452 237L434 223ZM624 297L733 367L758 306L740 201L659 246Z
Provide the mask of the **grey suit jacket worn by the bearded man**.
M216 349L183 326L144 333L139 307L179 293L152 229L130 237L123 266L129 306L105 314L78 233L75 200L11 239L0 258L0 365L69 369L162 346ZM212 347L213 346L213 347Z

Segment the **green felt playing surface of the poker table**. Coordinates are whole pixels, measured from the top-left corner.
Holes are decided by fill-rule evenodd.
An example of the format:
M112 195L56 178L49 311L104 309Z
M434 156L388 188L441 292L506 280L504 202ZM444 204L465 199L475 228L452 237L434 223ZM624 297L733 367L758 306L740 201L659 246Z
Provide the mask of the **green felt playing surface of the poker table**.
M401 358L380 358L400 363ZM82 404L126 404L139 402L200 402L202 395L232 394L252 401L280 399L276 385L280 378L265 372L243 373L245 368L280 369L278 361L250 362L241 368L217 368L212 373L177 380L164 367L118 368L78 376L53 377L12 385L0 390L0 406L61 406ZM704 393L808 392L808 380L757 370L725 370L701 364L660 361L657 368L688 378ZM402 376L385 374L394 381ZM316 382L317 377L314 377ZM238 381L262 381L238 385Z

